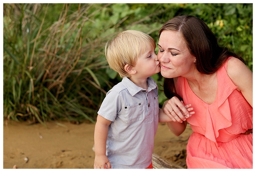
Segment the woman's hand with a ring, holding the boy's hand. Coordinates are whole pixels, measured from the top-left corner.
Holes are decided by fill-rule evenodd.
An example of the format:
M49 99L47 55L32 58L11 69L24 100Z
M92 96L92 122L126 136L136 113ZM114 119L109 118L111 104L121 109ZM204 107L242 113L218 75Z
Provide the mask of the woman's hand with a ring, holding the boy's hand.
M172 97L163 104L163 111L172 121L182 123L192 114L195 114L195 112L191 112L193 108L189 108L190 106L191 104L184 105L183 101L180 101L177 97Z

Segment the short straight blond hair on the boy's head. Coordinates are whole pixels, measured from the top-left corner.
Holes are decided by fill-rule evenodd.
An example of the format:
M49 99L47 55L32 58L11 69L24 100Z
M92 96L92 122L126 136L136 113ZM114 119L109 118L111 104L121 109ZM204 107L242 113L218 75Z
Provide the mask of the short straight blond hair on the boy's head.
M155 49L151 36L141 31L126 30L107 42L105 56L111 69L118 72L121 78L129 78L131 75L125 71L125 65L134 67L137 58L151 48Z

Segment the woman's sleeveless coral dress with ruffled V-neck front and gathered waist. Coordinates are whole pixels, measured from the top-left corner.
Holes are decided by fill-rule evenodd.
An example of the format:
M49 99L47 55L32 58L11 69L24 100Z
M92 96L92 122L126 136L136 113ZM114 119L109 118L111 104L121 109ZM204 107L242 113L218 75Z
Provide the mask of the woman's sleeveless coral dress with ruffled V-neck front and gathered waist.
M253 168L253 108L227 75L227 61L217 71L218 91L212 104L203 102L179 77L177 93L195 114L187 119L193 133L187 144L187 168Z

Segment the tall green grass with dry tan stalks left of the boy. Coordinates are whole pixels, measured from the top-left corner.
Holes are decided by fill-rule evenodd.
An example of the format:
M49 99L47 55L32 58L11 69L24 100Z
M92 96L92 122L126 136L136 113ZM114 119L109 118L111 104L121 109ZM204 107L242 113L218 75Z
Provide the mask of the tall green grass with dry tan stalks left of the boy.
M87 41L90 37L83 30L90 20L85 15L90 5L68 15L70 6L64 4L58 21L47 28L43 26L49 4L14 6L5 4L5 119L42 124L57 119L94 122L104 89L111 83L101 51L107 37ZM12 10L20 13L20 23L14 21L17 16L11 15Z

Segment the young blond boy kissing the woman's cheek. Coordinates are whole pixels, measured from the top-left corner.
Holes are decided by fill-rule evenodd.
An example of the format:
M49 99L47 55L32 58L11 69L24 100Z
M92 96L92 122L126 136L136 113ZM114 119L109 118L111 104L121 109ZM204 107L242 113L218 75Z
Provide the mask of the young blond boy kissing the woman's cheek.
M152 168L158 117L170 119L159 109L158 87L149 77L160 72L155 41L140 31L123 31L107 43L105 55L123 79L98 111L94 168Z

